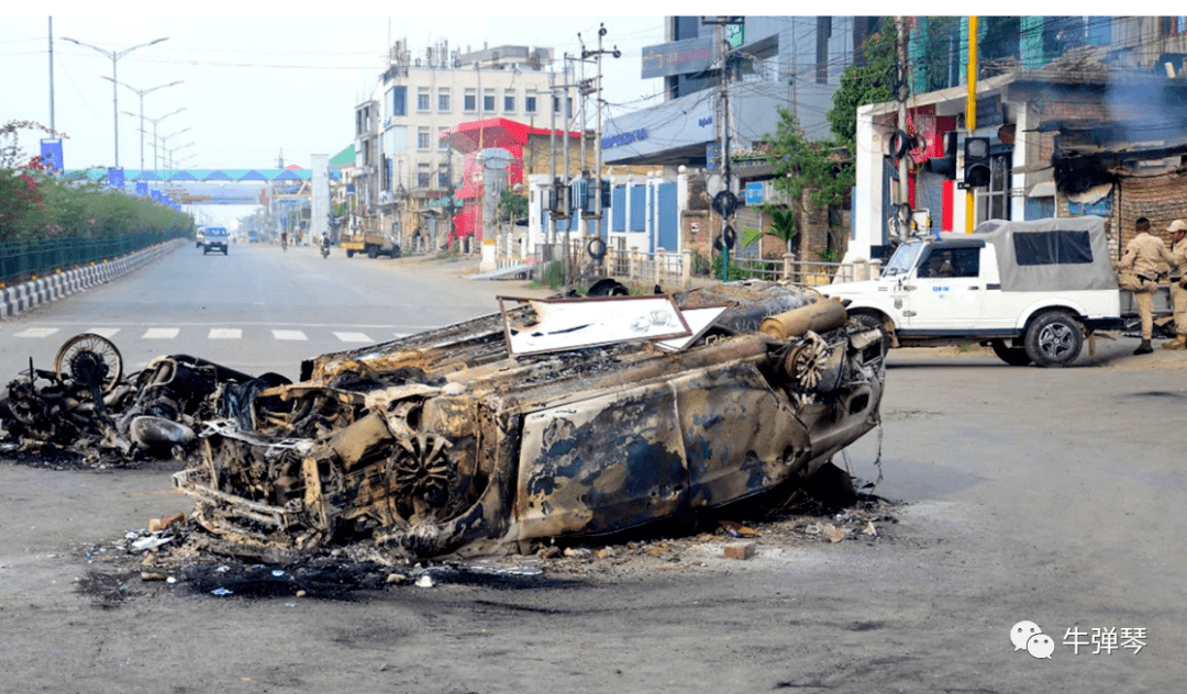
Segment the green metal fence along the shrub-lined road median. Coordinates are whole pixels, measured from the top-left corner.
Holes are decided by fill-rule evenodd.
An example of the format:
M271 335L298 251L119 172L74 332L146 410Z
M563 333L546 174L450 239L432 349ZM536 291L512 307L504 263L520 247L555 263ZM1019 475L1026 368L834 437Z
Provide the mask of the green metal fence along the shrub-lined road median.
M182 231L145 231L108 238L31 238L0 243L0 281L12 282L55 269L100 262L147 248L170 238L183 238Z

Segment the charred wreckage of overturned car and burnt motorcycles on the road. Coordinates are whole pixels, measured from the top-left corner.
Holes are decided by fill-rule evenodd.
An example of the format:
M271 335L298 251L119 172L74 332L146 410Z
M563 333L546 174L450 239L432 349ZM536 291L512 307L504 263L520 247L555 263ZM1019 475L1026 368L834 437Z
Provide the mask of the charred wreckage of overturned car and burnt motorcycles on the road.
M216 552L432 558L786 496L880 421L881 332L810 288L500 304L303 362L298 383L185 355L125 377L82 335L8 384L4 424L23 445L183 460Z

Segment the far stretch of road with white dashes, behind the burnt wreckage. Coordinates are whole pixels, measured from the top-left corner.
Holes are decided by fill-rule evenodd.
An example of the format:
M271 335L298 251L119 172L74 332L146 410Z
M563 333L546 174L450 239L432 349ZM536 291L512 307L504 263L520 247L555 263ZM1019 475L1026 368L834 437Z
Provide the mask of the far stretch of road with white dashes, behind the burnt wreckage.
M495 312L500 292L523 295L522 284L458 276L472 265L348 259L339 249L323 259L311 246L235 244L226 256L183 246L114 282L0 323L0 374L27 369L30 357L50 368L69 337L99 332L119 348L125 371L185 354L296 378L304 358Z

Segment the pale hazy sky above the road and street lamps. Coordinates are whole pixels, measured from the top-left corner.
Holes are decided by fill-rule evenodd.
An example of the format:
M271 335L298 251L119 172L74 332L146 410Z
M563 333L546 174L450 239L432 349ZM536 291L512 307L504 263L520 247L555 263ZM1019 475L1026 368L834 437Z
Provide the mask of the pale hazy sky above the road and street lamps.
M402 13L404 5L382 7ZM146 119L160 119L157 134L166 138L158 154L164 159L163 149L172 148L179 168L269 168L281 149L286 165L307 167L311 154L337 154L354 139L355 104L380 96L389 39L406 39L413 56L424 56L427 46L444 39L451 51L468 45L478 50L485 42L552 47L560 57L580 52L578 33L586 47L596 47L598 24L604 23L605 47L616 44L622 51L617 61L604 59L605 98L630 104L611 107L610 115L655 103L661 89L659 79L639 77L642 49L664 42L660 15L483 17L474 13L491 5L451 2L439 4L438 15L324 17L300 14L301 7L324 12L324 2L293 2L265 6L286 12L296 7L296 15L246 17L235 15L230 4L202 6L209 15L160 17L169 6L147 4L51 5L39 15L12 15L6 8L0 15L0 122L50 125L51 15L53 125L68 135L66 168L110 166L115 159L112 82L102 78L112 76L112 61L63 40L66 37L116 52L169 38L119 58L116 78L138 90L183 81L144 96ZM82 14L97 7L118 9L103 17ZM628 7L616 2L610 9ZM224 14L217 15L220 11ZM586 76L592 76L592 65L588 69ZM119 163L139 168L140 97L122 85L116 95ZM184 110L172 113L177 109ZM151 121L145 129L145 167L152 168ZM23 133L24 149L37 153L39 138Z

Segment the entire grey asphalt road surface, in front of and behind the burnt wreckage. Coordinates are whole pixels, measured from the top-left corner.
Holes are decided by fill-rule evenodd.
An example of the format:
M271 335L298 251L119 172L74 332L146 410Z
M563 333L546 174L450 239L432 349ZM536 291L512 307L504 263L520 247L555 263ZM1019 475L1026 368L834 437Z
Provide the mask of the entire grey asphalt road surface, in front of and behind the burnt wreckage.
M193 319L199 332L183 338L183 325L174 343L205 356L215 340L201 331L234 317L245 356L218 349L242 369L341 349L332 330L301 349L267 335L256 344L247 338L253 321L395 332L487 312L502 291L483 285L484 297L461 297L453 292L474 287L452 273L337 259L400 300L320 313L318 289L336 280L318 279L318 262L335 259L275 260L268 250L174 253L116 284L141 273L176 282L202 262L229 268L242 259L249 269L260 253L290 276L284 288L260 307L247 289L273 291L262 289L262 272L230 288L218 278L237 275L210 269L197 284L242 297L240 313ZM312 288L290 268L313 275ZM78 307L68 300L0 324L4 365L19 362L11 336L25 325L65 326L70 317L75 326L110 321L135 332L166 326L159 311L178 325L190 311L192 289L172 288L167 300L134 304L154 314L137 321L121 308L135 293L123 291L104 287ZM430 313L427 299L442 297L452 313ZM300 312L317 318L297 320ZM121 350L145 358L137 350L148 348L119 335ZM337 601L214 598L129 581L100 600L76 579L106 565L78 547L185 510L169 471L0 463L0 690L1176 692L1187 681L1187 356L1134 357L1135 345L1103 342L1097 356L1056 370L1005 367L976 350L893 354L883 427L837 460L872 479L881 450L876 492L903 503L897 522L877 523L875 540L763 536L747 561L685 540L675 561L591 559L583 572L518 586L442 582ZM1023 620L1050 637L1049 658L1011 643Z

